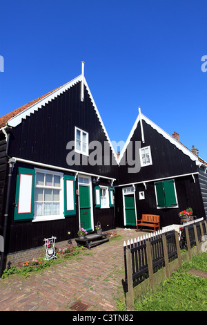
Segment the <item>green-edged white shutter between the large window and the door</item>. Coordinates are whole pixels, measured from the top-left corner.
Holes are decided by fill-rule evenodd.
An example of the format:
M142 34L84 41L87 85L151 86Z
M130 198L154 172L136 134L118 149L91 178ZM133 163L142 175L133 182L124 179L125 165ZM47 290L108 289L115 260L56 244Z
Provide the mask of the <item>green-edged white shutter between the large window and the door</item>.
M75 206L75 176L64 175L64 214L76 214Z

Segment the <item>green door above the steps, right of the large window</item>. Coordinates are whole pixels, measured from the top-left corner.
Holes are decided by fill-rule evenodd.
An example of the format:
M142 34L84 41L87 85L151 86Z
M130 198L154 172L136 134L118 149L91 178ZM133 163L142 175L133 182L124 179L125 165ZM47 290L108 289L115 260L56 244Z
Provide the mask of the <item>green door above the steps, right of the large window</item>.
M87 231L91 228L90 187L79 185L80 221L81 228Z

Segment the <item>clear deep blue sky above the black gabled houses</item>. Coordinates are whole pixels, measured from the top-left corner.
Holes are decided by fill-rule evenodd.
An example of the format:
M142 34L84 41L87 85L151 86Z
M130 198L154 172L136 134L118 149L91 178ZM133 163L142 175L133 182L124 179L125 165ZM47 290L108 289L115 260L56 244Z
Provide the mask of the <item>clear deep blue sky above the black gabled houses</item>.
M0 115L81 73L110 140L138 106L207 161L206 0L1 1ZM207 67L207 65L206 65Z

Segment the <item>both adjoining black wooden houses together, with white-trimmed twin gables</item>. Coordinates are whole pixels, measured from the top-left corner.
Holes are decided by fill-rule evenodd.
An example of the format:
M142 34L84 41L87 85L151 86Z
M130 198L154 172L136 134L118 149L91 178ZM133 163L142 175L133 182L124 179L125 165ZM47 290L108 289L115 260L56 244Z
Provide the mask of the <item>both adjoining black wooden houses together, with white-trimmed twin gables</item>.
M117 158L82 63L74 80L0 118L1 271L8 254L52 235L74 239L98 221L104 231L141 214L179 223L187 207L205 216L205 166L141 111Z

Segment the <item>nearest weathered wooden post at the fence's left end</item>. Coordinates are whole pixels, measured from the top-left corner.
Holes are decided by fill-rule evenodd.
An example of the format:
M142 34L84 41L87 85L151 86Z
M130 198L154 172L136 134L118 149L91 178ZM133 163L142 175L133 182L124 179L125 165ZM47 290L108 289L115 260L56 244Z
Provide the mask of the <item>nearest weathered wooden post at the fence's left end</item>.
M127 308L134 309L134 290L133 290L133 280L132 280L132 257L129 248L126 248L126 268L127 268L127 286L128 286L128 296L126 299Z

